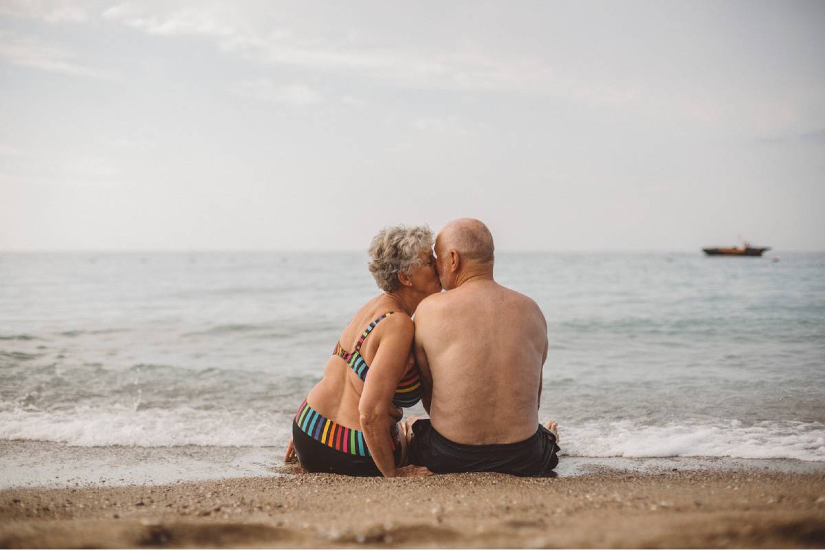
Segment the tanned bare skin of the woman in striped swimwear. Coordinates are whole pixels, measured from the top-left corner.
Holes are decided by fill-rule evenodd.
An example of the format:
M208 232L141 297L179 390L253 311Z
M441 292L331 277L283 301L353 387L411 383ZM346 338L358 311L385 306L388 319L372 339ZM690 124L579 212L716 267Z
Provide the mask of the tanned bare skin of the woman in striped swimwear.
M396 312L380 322L361 346L361 355L370 365L366 382L362 382L341 357L332 355L323 378L307 396L309 406L321 415L364 432L370 454L384 477L429 473L427 468L416 466L396 468L390 438L391 426L401 420L402 415L392 403L395 388L413 365L413 313L423 299L441 292L435 256L426 251L419 260L421 265L410 273L398 274L397 290L379 294L367 302L341 334L344 349L354 350L370 322L389 311ZM406 444L405 437L402 443ZM289 460L293 456L290 441L285 458Z

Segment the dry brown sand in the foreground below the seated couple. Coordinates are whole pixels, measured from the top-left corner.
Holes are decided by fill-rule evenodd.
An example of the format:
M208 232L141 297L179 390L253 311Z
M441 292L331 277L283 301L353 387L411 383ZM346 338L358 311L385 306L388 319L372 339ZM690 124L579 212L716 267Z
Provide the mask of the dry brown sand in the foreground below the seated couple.
M0 547L822 548L825 472L283 473L0 491Z

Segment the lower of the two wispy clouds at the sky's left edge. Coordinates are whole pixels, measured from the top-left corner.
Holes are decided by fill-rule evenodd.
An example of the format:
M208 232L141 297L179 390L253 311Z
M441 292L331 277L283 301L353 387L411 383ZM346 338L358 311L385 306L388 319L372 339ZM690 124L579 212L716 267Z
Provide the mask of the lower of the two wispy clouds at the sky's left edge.
M111 78L104 71L78 63L66 47L45 42L34 36L13 37L0 34L0 59L20 67L39 68L50 73L73 74L92 78Z

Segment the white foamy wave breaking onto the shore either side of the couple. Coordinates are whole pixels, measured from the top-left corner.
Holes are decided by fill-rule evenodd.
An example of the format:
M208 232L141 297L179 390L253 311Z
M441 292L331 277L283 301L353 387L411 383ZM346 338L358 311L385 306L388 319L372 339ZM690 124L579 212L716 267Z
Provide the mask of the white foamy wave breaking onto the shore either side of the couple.
M79 447L285 447L290 411L204 411L188 407L77 407L0 412L0 439ZM740 421L641 425L634 421L560 426L563 454L583 457L791 458L825 462L821 422Z

